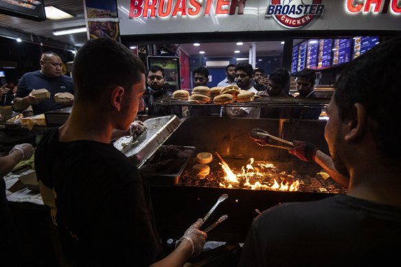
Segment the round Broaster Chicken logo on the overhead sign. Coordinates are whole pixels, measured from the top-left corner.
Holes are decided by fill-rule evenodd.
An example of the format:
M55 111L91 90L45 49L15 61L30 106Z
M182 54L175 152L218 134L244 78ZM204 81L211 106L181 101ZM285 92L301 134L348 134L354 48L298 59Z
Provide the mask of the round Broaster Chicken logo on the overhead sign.
M295 29L310 23L316 16L323 15L321 0L271 0L266 16L284 27Z

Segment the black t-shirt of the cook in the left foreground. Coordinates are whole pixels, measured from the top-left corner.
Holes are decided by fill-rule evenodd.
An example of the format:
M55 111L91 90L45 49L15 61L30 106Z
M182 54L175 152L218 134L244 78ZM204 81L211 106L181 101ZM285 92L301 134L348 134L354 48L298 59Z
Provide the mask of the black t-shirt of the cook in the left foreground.
M35 167L43 202L76 266L149 266L160 258L148 185L113 145L60 142L53 128L36 148Z

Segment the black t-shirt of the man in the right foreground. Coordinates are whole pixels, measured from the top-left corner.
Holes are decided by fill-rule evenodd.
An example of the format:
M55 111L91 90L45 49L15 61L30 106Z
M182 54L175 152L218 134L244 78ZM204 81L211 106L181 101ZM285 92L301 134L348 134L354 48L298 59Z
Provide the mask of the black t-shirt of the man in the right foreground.
M283 203L253 220L239 266L392 266L401 209L336 195Z

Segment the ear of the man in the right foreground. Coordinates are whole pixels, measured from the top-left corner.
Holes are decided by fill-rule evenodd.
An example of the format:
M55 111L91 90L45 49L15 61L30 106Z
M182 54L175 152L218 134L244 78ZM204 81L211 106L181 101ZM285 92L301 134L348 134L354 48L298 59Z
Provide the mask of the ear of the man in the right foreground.
M365 106L355 103L352 107L352 118L347 123L346 141L356 141L365 136L367 130L367 112Z

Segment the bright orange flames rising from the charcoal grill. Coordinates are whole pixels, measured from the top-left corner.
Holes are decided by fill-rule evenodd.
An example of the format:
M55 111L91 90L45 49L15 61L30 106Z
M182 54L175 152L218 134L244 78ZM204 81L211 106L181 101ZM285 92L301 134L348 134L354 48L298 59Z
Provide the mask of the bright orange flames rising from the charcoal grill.
M219 156L221 163L219 163L222 167L222 170L225 172L225 182L220 183L220 187L232 188L233 183L240 183L240 180L243 180L244 187L249 187L253 190L255 189L273 189L277 191L298 191L299 189L299 179L295 178L292 175L287 175L286 172L280 172L278 176L282 178L281 183L276 181L273 178L273 185L269 186L266 183L262 183L260 181L256 181L253 185L250 183L250 178L256 178L257 180L262 180L266 176L276 176L275 172L268 172L268 170L277 170L273 163L258 163L257 166L253 166L255 159L250 158L249 163L246 166L242 166L242 173L234 174L230 169L229 165Z

